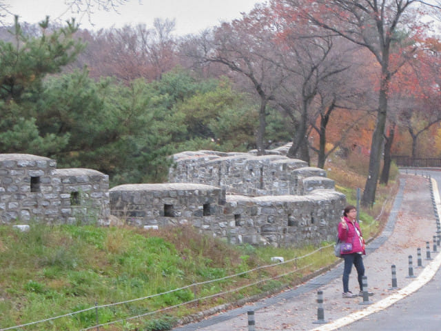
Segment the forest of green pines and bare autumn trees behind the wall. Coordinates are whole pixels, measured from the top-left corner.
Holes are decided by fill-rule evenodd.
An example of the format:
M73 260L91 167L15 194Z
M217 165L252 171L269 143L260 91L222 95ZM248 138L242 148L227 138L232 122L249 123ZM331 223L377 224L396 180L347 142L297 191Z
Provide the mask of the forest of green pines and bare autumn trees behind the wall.
M0 153L114 186L165 181L183 150L291 141L289 157L320 168L334 152L369 159L373 203L392 154L441 157L440 3L379 3L268 1L184 37L171 19L99 31L17 19L0 28Z

